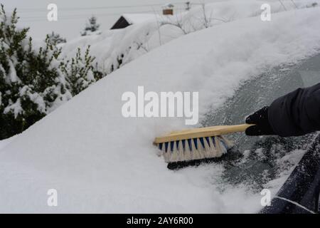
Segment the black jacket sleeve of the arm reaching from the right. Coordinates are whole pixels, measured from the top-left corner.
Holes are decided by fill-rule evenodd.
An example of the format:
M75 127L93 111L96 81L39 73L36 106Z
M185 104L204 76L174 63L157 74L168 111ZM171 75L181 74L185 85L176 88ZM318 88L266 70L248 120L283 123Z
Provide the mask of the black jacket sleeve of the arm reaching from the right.
M320 83L274 100L268 119L274 132L282 137L320 130Z

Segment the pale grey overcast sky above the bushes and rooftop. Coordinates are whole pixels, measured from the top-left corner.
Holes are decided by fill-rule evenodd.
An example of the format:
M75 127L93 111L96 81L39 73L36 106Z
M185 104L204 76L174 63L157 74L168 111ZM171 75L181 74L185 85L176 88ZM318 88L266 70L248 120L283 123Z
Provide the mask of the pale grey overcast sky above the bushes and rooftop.
M97 16L102 30L109 29L121 14L159 12L161 5L173 3L177 9L184 9L184 2L190 0L1 0L6 11L18 9L20 26L31 28L31 36L43 39L46 33L55 31L68 39L80 35L87 18ZM221 0L191 0L191 3L213 2ZM47 6L58 6L58 21L47 20Z

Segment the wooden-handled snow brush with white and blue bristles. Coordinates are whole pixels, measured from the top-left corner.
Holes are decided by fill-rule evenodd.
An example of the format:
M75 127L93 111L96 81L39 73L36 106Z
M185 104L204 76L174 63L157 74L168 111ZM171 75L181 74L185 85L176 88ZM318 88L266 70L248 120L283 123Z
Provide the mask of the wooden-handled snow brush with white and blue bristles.
M169 169L197 165L202 161L217 160L233 147L223 135L243 132L250 124L221 125L174 131L158 137L154 145L159 147Z

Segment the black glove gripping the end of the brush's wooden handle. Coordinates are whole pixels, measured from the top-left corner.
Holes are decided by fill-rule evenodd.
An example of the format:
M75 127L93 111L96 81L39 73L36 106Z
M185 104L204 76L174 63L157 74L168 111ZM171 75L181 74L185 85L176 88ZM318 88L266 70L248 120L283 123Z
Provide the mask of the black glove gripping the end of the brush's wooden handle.
M266 106L245 119L245 123L255 124L245 130L246 135L276 135L268 120L268 109Z

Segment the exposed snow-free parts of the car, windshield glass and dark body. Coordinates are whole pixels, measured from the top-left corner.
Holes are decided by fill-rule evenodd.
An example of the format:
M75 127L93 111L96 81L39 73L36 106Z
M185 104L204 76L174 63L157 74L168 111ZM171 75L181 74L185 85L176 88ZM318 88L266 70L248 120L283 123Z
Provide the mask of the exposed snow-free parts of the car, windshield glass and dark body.
M203 125L243 123L247 115L270 105L279 96L297 88L312 86L319 81L320 54L287 66L278 66L243 82L233 98L228 99L223 107L206 114ZM291 138L247 137L238 133L233 135L232 139L237 145L237 150L234 151L242 157L235 162L226 162L227 167L223 174L225 182L247 185L258 192L264 189L268 182L276 180L281 172L289 173L287 180L279 186L279 191L272 198L270 206L264 207L260 213L319 212L318 133ZM279 161L292 151L295 151L297 163L287 162L285 165L279 165ZM302 156L301 160L297 159L297 156Z

